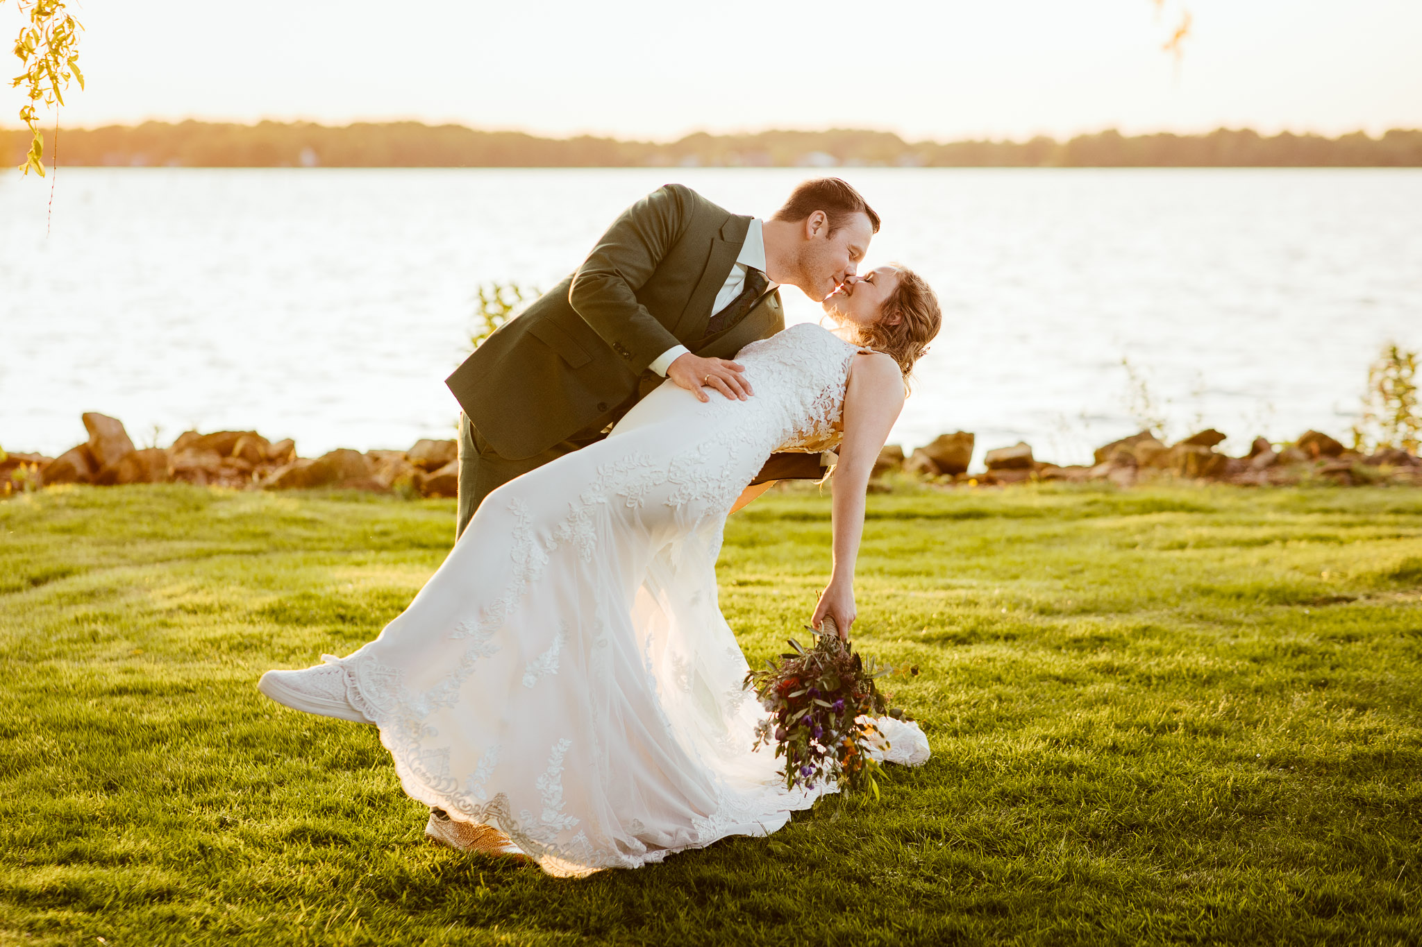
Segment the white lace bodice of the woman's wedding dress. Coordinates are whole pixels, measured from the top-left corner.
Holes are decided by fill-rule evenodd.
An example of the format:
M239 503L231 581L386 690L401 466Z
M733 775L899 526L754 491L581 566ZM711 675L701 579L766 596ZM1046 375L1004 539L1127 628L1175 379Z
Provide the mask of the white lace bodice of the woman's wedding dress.
M860 349L813 322L801 322L737 355L757 399L781 422L776 450L816 451L843 437L849 363Z

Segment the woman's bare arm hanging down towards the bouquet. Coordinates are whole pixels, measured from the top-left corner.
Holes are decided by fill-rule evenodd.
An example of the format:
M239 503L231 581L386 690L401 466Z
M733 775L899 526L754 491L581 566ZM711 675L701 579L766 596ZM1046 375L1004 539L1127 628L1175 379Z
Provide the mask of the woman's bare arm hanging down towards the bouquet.
M889 430L903 409L903 375L887 355L856 355L845 390L845 440L839 464L830 477L833 568L820 592L811 625L819 628L828 615L840 637L849 637L855 623L855 559L865 532L865 493L875 460L889 439Z

